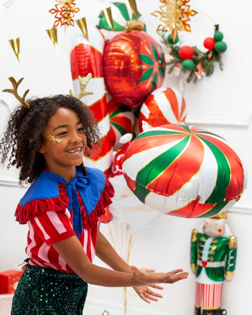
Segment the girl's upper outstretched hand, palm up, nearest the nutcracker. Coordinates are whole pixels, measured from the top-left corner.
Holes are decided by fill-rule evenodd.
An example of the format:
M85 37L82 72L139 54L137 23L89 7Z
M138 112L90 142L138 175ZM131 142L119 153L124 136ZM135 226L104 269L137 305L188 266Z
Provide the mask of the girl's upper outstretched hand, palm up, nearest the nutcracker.
M175 283L179 280L186 279L188 272L183 272L183 269L176 269L171 272L143 272L135 266L130 266L134 277L134 287L148 284L158 283Z

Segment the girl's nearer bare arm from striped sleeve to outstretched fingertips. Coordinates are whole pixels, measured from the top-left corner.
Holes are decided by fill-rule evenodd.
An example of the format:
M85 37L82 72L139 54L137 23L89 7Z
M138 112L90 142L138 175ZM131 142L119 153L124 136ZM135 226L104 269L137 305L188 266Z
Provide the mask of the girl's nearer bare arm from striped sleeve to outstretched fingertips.
M84 281L90 284L102 285L105 287L132 287L143 284L174 283L188 276L187 272L179 269L175 273L152 273L141 272L131 266L130 272L114 271L92 264L81 243L76 236L71 236L63 241L53 244L59 255L66 261L72 270Z

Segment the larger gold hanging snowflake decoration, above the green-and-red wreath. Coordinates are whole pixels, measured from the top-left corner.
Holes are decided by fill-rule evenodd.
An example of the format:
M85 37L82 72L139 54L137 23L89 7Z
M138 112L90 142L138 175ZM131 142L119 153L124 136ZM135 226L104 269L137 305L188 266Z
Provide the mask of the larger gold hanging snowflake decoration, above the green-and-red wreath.
M190 9L190 5L187 3L190 0L160 0L163 5L160 6L161 11L155 11L151 13L156 17L160 17L161 24L157 28L159 31L171 31L173 41L177 36L177 31L191 31L191 27L188 24L190 16L197 14L198 12Z

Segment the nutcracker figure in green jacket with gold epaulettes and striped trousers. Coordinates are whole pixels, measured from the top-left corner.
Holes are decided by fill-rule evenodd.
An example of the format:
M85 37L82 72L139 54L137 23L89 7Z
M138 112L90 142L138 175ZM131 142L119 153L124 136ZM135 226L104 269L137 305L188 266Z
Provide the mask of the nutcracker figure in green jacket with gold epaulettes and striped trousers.
M235 269L237 240L226 222L226 212L206 218L191 238L191 269L196 276L194 315L225 315L221 309L223 282Z

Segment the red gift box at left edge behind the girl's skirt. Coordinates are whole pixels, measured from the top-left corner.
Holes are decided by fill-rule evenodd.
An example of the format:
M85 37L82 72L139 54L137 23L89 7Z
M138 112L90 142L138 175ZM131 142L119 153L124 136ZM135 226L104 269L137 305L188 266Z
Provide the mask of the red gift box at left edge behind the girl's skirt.
M0 294L14 293L24 270L6 270L0 272Z

